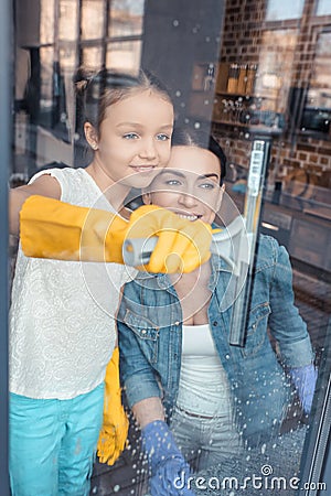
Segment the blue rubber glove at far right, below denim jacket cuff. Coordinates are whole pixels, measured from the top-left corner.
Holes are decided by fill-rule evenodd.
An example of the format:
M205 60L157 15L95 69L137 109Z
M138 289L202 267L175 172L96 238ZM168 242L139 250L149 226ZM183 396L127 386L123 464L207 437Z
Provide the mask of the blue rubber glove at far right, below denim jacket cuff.
M297 389L303 412L309 414L311 410L313 392L318 376L318 370L313 364L289 369L289 376Z

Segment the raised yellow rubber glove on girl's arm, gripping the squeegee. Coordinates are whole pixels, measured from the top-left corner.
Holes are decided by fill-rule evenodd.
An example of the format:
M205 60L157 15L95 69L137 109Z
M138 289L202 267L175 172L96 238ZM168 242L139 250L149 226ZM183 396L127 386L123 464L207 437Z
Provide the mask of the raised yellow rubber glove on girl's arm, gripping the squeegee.
M154 205L131 214L129 223L106 211L30 196L20 213L23 252L28 257L124 263L126 238L159 236L146 269L190 272L210 258L212 229Z

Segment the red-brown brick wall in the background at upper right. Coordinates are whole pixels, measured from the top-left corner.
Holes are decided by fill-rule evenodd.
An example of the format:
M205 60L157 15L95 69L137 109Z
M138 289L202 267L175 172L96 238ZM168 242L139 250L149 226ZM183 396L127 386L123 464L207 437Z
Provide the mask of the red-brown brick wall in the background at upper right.
M300 131L297 125L290 123L289 120L290 87L309 87L318 35L325 26L331 26L331 17L313 17L313 0L306 0L299 20L266 22L266 1L228 1L220 62L257 64L260 73L261 63L268 63L270 57L277 65L277 51L279 52L278 58L281 64L284 57L284 66L280 65L276 74L284 79L282 94L278 95L277 106L278 109L285 109L288 126L287 130L273 141L271 176L282 180L293 170L303 169L308 171L314 184L328 187L331 186L331 136L321 139L310 131ZM291 36L289 45L292 45L292 55L286 43L282 47L277 44L278 30L284 30L284 36ZM231 129L222 125L214 126L213 131L224 147L229 162L248 166L252 134L243 128Z

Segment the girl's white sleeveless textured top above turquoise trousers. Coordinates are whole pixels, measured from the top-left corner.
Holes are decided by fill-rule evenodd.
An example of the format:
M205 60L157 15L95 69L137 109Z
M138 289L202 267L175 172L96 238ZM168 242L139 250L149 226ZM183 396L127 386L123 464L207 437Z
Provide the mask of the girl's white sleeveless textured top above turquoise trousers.
M52 169L61 200L114 212L84 169ZM116 341L120 287L136 271L118 263L43 260L19 248L10 310L10 391L70 399L105 377ZM109 316L110 315L110 316Z

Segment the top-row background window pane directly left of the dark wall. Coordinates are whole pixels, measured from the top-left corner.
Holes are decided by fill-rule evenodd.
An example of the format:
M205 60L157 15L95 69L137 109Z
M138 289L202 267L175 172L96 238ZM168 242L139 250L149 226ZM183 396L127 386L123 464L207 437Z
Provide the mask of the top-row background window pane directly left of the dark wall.
M110 6L108 36L142 33L145 0L114 0Z

